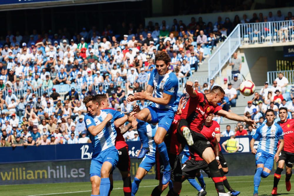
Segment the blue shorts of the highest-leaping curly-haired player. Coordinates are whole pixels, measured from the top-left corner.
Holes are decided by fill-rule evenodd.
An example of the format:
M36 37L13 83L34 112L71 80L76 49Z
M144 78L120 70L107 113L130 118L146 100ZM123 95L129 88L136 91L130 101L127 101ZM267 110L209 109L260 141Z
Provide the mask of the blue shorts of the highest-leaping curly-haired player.
M158 122L158 127L162 127L168 131L175 118L175 112L171 109L158 109L150 105L146 108L149 109L151 114L151 122L149 123L152 124Z

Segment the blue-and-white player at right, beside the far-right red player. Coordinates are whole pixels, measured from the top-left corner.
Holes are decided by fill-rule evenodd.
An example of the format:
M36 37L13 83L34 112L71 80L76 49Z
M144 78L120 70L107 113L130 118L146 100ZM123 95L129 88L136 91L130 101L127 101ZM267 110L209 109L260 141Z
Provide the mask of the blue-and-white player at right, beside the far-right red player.
M254 175L254 192L253 196L258 196L258 187L261 177L266 178L273 168L274 159L279 160L279 153L284 146L283 130L274 122L275 114L273 109L268 109L265 112L267 122L258 127L250 141L251 152L255 154L255 164L257 169ZM254 142L260 138L257 150L254 148ZM280 142L279 148L278 142ZM278 150L277 150L278 149Z

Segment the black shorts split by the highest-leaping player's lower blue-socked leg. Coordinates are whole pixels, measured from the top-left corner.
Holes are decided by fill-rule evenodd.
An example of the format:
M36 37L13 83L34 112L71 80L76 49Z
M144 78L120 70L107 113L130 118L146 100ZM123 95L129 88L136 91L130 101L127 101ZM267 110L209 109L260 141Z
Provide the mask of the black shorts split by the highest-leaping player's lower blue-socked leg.
M159 153L156 152L156 164L155 164L155 170L156 170L156 180L162 179L162 173L163 173L163 161L160 158ZM169 158L169 164L171 165L171 180L174 182L182 182L182 169L181 169L181 162L180 162L180 156L174 155L174 154L168 154Z

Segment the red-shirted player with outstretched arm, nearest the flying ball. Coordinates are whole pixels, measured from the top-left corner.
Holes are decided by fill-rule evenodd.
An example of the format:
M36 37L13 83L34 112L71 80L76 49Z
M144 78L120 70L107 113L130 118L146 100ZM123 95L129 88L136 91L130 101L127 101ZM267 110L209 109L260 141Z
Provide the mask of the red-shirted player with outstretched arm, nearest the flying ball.
M219 195L227 195L223 187L221 173L218 170L218 162L211 148L210 142L201 134L203 122L209 114L215 113L231 120L246 122L256 125L253 120L240 117L237 114L226 112L218 106L222 102L225 92L219 86L215 86L208 94L202 94L193 90L193 82L187 82L186 92L190 98L181 114L180 132L183 132L190 149L202 157L208 164L210 174ZM208 143L209 142L209 143ZM190 154L193 152L190 152Z

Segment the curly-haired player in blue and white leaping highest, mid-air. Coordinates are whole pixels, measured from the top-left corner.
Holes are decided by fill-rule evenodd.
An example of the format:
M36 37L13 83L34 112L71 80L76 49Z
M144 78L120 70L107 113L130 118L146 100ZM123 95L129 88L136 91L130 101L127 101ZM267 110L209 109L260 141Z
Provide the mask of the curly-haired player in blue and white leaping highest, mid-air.
M137 130L142 142L142 148L138 158L143 158L148 152L148 137L146 124L158 123L158 129L154 136L154 142L164 163L162 184L166 185L171 179L171 166L169 164L164 137L173 122L178 105L178 78L168 69L171 58L165 52L155 55L156 69L151 72L148 86L145 92L136 92L128 97L128 102L136 100L149 100L152 105L144 108L137 114ZM154 90L154 94L152 96Z

